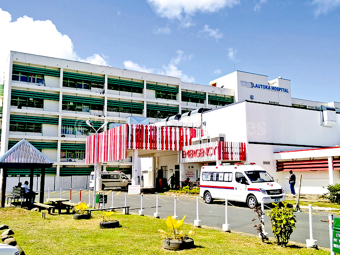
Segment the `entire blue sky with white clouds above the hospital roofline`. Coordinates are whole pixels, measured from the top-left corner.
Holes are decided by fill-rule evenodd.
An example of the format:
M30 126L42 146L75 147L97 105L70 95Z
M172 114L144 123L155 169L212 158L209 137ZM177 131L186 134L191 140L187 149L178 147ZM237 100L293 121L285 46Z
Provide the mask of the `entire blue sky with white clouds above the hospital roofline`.
M340 0L10 0L9 50L208 84L235 69L281 76L292 97L340 101Z

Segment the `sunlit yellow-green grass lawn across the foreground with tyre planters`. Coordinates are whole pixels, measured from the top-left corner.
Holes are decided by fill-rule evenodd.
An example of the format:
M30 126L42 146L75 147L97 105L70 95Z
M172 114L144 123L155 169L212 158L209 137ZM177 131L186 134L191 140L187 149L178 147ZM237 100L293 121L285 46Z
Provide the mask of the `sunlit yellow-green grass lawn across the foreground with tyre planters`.
M8 225L13 237L27 255L102 255L102 254L329 254L288 243L287 247L262 243L257 237L214 229L196 228L185 224L181 229L196 230L195 248L170 251L161 247L157 230L165 230L165 220L135 214L115 212L119 228L100 229L102 212L92 212L93 218L75 220L70 214L41 217L41 212L22 208L1 208L1 224ZM295 229L296 231L296 229Z

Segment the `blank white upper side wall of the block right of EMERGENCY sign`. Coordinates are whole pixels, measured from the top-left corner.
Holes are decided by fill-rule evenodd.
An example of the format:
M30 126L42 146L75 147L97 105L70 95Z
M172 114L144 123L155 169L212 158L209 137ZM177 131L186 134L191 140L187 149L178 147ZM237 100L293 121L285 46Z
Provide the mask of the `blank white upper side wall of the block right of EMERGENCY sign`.
M340 114L333 127L322 126L320 111L246 102L248 141L298 145L340 144ZM253 123L256 128L253 127ZM292 149L289 149L292 150Z

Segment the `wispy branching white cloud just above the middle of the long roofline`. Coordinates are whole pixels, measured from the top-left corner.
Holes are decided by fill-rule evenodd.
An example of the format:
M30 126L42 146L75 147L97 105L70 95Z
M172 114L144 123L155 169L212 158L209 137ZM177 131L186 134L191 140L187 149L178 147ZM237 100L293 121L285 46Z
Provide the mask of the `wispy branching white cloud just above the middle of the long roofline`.
M158 68L147 68L145 65L140 66L139 64L132 62L131 60L126 60L123 62L123 64L124 64L124 67L129 70L142 71L142 72L148 72L148 73L157 73L157 74L164 73L167 76L180 77L181 80L185 82L193 82L195 80L193 76L186 75L185 73L183 73L182 70L178 70L178 67L177 67L180 61L190 60L192 55L184 55L183 50L180 50L180 49L178 49L176 53L177 53L177 56L174 58L171 58L168 65L163 64L162 68L164 69L164 71Z

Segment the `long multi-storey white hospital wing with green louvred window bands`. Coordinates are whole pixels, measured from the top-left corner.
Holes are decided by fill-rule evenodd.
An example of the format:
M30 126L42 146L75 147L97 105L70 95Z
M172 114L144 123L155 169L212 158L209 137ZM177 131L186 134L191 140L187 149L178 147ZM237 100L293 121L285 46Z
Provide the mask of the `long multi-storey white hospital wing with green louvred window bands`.
M153 123L200 107L234 102L233 89L182 82L178 77L11 51L1 75L3 103L0 153L22 138L48 158L46 174L89 175L85 137L108 121L128 116ZM105 127L104 129L108 128ZM129 159L104 166L129 173ZM8 174L25 174L10 170Z

